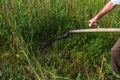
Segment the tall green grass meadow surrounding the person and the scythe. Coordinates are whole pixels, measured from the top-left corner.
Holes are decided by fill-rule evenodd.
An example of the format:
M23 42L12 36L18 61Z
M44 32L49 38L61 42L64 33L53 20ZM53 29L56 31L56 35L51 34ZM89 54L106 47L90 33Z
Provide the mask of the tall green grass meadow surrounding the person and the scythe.
M76 33L45 49L47 40L88 21L109 0L0 0L0 80L104 80L120 33ZM120 27L120 8L102 28Z

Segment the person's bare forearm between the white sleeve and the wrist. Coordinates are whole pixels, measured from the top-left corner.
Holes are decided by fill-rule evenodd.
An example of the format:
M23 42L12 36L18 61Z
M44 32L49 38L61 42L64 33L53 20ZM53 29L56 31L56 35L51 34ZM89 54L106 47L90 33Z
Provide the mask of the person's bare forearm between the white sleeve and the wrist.
M110 1L94 18L98 20L99 18L101 18L102 16L104 16L106 13L110 12L114 8L115 8L115 5Z

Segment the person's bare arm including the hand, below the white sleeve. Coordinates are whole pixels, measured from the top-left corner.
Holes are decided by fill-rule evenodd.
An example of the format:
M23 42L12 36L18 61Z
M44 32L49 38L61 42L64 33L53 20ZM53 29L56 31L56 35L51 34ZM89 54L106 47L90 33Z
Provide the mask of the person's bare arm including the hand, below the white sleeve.
M110 12L112 9L115 8L116 5L114 5L111 1L109 1L105 7L103 7L103 9L95 16L93 17L91 20L89 20L89 26L97 26L97 21L104 16L105 14L107 14L108 12Z

